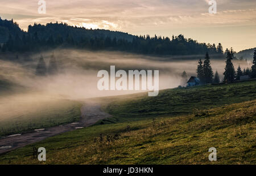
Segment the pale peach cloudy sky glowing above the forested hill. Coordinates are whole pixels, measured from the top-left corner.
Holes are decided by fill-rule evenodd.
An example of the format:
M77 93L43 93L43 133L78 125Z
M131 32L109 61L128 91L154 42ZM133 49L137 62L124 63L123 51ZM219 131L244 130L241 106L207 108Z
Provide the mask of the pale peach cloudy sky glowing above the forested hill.
M41 0L42 1L42 0ZM2 19L13 19L27 31L29 24L65 22L85 28L110 29L132 35L171 37L183 34L199 42L221 44L235 51L256 47L256 1L216 0L0 0Z

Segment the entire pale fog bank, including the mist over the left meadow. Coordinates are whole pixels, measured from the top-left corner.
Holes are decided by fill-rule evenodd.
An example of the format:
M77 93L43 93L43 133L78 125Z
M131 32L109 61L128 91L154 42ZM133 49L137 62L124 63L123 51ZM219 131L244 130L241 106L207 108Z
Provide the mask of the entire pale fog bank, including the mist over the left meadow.
M41 56L43 60L41 59L42 63L39 66ZM196 76L198 62L191 59L179 61L179 59L170 60L121 52L80 50L54 50L39 54L20 54L18 57L19 62L10 62L0 55L0 83L2 84L0 86L0 122L2 124L3 122L18 124L22 119L26 123L27 121L31 123L31 118L36 120L41 118L42 114L47 116L47 112L54 114L55 111L63 111L61 108L72 110L76 105L66 100L141 92L99 91L97 83L100 78L97 77L97 73L100 70L110 72L110 66L115 66L115 71L125 70L126 72L128 70L159 70L159 89L166 89L181 84L183 71L187 72L188 78ZM245 61L233 61L233 63L235 68L239 64L242 68L250 67ZM217 70L223 78L225 60L212 59L211 65L213 71ZM36 72L41 74L43 72L46 75L36 75ZM11 91L13 87L15 92ZM9 92L5 93L3 89ZM48 116L45 118L47 120ZM3 127L0 126L0 128ZM9 128L8 130L12 131ZM5 134L3 130L2 133Z

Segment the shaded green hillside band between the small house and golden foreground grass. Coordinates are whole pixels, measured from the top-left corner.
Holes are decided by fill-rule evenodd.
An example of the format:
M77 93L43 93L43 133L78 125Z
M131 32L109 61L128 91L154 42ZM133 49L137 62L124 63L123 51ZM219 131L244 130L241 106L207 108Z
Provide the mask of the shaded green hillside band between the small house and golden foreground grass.
M104 110L114 115L114 118L105 122L191 114L196 109L216 108L255 99L256 81L166 89L156 97L148 97L146 93L132 98L110 97L104 98L110 102L104 105Z

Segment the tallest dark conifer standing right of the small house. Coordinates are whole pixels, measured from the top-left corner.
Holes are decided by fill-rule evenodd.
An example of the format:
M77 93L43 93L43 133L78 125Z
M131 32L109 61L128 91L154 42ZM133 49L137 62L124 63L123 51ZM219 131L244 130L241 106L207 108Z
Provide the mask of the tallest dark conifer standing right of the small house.
M233 59L233 51L227 51L226 54L226 66L224 72L224 81L233 82L235 78L236 71L234 70L234 66L232 63Z

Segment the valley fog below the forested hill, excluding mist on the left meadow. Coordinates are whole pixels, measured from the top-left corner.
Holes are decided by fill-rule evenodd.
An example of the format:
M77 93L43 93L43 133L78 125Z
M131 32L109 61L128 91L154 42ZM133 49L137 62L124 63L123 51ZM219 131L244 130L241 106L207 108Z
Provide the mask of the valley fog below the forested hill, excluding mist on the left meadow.
M49 59L54 55L57 74L36 76L36 66L40 55L43 56L46 67ZM22 56L21 56L22 57ZM20 57L19 57L20 58ZM34 91L44 92L46 95L61 96L71 99L83 99L100 96L122 95L139 91L98 91L97 78L99 70L110 72L110 66L117 70L159 70L159 89L174 88L181 84L181 73L196 76L197 62L195 60L163 61L163 58L148 57L111 51L80 51L54 50L30 56L31 61L14 63L1 61L0 75L2 78L15 81ZM22 58L20 58L22 59ZM23 58L26 59L26 58ZM202 58L204 60L204 58ZM160 61L159 61L160 60ZM233 61L234 67L250 67L245 61ZM211 60L213 72L218 71L223 78L225 60Z

